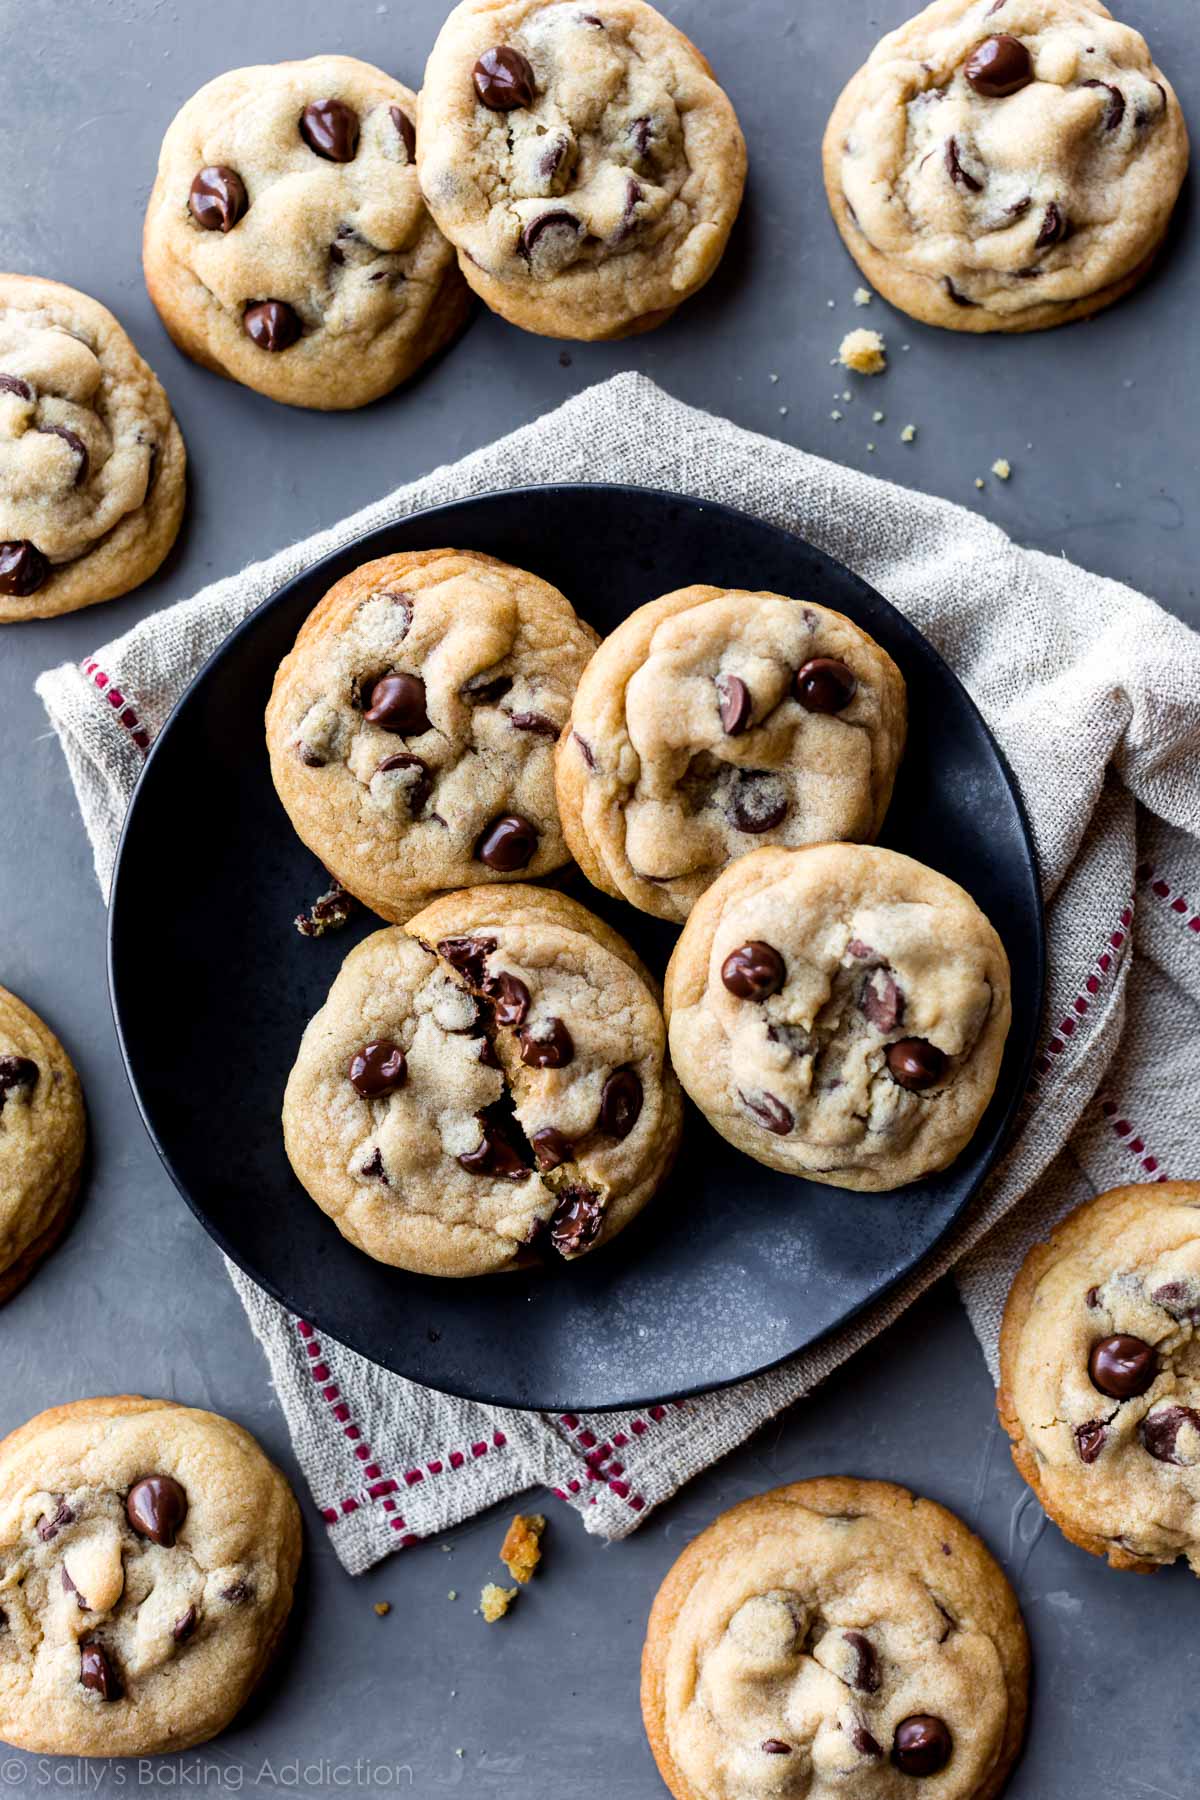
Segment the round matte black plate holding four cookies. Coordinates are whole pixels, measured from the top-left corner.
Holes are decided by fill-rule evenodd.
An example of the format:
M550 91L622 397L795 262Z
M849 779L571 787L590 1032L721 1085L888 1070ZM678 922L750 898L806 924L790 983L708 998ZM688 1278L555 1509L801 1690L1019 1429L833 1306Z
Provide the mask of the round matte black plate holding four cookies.
M371 1262L308 1199L279 1109L306 1021L378 927L300 938L326 886L275 799L263 707L320 596L392 551L489 551L554 581L599 632L691 581L822 601L909 684L910 734L883 842L963 882L1013 963L1013 1031L973 1143L898 1193L846 1193L739 1156L689 1107L675 1175L608 1249L545 1273L439 1282ZM662 970L675 932L576 889ZM218 1244L322 1332L414 1381L545 1409L633 1406L738 1381L847 1319L946 1231L1024 1089L1042 997L1042 911L1013 778L966 691L856 576L741 513L637 488L484 495L385 526L268 599L191 684L139 781L112 895L117 1030L146 1127Z

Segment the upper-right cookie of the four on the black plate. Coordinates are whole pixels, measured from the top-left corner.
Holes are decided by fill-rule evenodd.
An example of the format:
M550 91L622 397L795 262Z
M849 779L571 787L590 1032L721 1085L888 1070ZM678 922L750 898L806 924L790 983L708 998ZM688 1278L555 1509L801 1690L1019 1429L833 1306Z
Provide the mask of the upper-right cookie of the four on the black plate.
M685 920L765 842L874 837L903 742L900 670L840 612L685 587L630 614L583 675L563 832L596 887Z

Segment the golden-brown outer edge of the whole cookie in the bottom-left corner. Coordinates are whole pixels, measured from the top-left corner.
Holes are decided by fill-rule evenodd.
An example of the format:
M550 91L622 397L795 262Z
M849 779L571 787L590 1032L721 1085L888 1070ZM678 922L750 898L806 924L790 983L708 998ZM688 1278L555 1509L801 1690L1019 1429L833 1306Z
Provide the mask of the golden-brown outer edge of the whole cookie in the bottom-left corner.
M237 1717L243 1706L248 1705L254 1690L259 1687L263 1676L270 1669L279 1642L286 1629L288 1618L291 1615L291 1602L295 1597L295 1582L300 1571L300 1557L304 1550L304 1526L300 1519L300 1508L297 1498L291 1490L282 1469L272 1462L263 1445L252 1436L245 1426L239 1426L234 1418L227 1418L225 1413L210 1413L200 1406L184 1406L178 1400L153 1400L142 1393L112 1393L95 1395L86 1400L65 1400L61 1406L49 1406L43 1413L36 1413L32 1418L25 1420L23 1426L16 1426L9 1431L5 1438L0 1438L0 1476L4 1472L5 1458L16 1451L22 1451L25 1444L34 1442L43 1431L52 1431L56 1426L81 1424L85 1420L106 1420L106 1418L128 1418L135 1413L189 1413L191 1417L210 1422L216 1420L221 1431L230 1431L236 1438L243 1440L243 1447L248 1447L255 1456L266 1463L275 1480L279 1481L279 1490L284 1496L286 1512L286 1532L281 1544L281 1584L279 1598L281 1607L273 1629L259 1640L257 1656L252 1665L248 1665L246 1679L239 1683L237 1699L232 1706L219 1703L216 1692L210 1690L210 1708L207 1717L196 1724L180 1724L178 1732L169 1737L140 1741L133 1737L130 1742L119 1739L113 1732L113 1746L106 1751L88 1750L86 1755L108 1755L108 1757L126 1757L126 1755L144 1755L155 1757L166 1751L193 1750L196 1744L205 1744L209 1739L218 1737L232 1721ZM11 1742L16 1750L31 1751L32 1755L70 1755L70 1746L63 1742L29 1742L18 1741L18 1737L5 1726L5 1742Z

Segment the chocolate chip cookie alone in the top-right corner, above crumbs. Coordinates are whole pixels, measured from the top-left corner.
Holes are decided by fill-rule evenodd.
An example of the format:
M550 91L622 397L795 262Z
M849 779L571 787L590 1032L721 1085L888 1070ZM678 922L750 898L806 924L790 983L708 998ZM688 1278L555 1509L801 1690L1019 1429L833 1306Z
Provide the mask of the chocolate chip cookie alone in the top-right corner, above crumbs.
M1187 128L1099 0L934 0L851 79L826 193L867 281L954 331L1038 331L1146 274Z

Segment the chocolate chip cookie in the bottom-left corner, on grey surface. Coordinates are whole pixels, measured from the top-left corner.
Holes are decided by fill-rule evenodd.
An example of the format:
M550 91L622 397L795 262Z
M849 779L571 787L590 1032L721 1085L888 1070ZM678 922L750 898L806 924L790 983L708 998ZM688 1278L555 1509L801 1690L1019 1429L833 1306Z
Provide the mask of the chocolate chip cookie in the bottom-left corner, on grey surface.
M291 1609L300 1512L248 1431L115 1395L0 1442L0 1737L149 1757L221 1732Z

